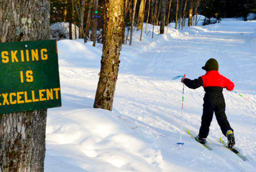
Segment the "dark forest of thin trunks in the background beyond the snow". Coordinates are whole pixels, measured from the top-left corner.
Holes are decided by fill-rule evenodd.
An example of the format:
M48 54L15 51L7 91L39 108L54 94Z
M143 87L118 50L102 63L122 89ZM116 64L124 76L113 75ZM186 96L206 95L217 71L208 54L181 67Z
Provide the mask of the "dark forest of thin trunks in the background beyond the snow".
M101 42L105 18L104 0L51 0L50 23L68 22L61 30L68 27L69 38L72 32L75 38L84 38L84 42L91 40ZM148 34L148 23L161 26L160 34L164 33L164 26L175 23L176 28L197 25L197 16L205 16L203 25L219 22L225 17L243 17L256 12L255 0L124 0L124 24L122 43L132 44L132 27L141 29ZM192 17L194 17L194 22ZM188 18L188 20L185 20ZM79 29L71 29L73 23ZM145 31L142 31L145 23ZM56 30L53 29L53 30ZM79 30L79 31L77 31ZM132 31L132 32L131 32ZM167 29L168 31L168 29ZM52 33L53 38L68 39L65 31ZM153 35L152 35L153 37ZM93 44L95 46L95 43Z

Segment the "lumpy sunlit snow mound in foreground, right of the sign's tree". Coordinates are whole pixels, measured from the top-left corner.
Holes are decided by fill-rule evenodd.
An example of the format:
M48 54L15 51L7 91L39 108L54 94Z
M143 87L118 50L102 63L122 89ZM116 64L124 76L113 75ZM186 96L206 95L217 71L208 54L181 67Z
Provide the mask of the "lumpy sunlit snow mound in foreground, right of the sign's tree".
M157 172L161 152L103 109L50 113L45 172Z

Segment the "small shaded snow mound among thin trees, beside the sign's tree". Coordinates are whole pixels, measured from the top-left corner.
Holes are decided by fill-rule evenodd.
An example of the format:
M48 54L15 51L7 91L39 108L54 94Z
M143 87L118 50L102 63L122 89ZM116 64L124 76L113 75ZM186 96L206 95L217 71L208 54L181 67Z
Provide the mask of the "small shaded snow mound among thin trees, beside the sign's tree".
M75 29L77 35L75 37ZM69 23L58 22L50 25L50 33L53 39L61 40L61 39L69 39ZM79 28L72 24L72 39L77 39L79 36Z

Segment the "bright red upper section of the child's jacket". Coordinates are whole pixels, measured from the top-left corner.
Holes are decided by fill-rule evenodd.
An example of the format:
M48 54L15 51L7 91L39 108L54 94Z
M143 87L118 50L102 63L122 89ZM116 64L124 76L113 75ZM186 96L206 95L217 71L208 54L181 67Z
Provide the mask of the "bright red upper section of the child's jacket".
M201 76L201 78L203 80L204 88L210 86L217 86L232 91L235 86L233 82L222 76L217 70L207 71L207 73Z

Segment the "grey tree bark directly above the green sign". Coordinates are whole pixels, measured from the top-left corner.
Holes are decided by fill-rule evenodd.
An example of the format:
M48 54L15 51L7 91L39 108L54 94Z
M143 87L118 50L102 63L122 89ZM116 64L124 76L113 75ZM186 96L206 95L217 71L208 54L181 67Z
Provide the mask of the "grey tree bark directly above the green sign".
M48 39L49 0L1 0L0 41Z

